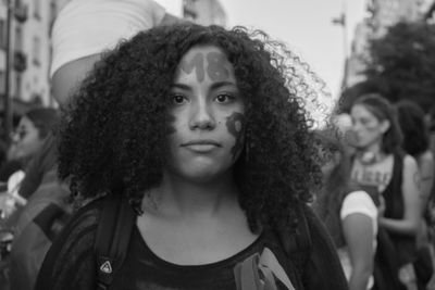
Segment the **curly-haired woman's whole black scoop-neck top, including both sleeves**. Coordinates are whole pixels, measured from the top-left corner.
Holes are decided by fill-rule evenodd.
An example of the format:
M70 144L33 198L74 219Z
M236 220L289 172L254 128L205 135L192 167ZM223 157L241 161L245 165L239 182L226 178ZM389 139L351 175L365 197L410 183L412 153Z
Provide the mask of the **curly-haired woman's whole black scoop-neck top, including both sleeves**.
M50 249L35 289L95 289L97 269L94 243L100 212L101 202L99 201L82 209L77 217L72 220ZM311 218L309 220L312 223ZM322 254L314 255L314 251L311 253L312 257L307 273L296 269L295 263L288 259L281 247L279 239L272 230L264 230L252 244L223 261L206 265L182 266L157 256L148 248L135 226L123 267L116 274L109 289L240 290L236 286L236 280L240 280L240 274L235 270L240 265L244 265L244 270L252 268L253 276L257 275L264 279L257 263L251 263L256 261L252 257L261 255L264 249L269 249L273 253L295 289L318 289L319 285L324 283L324 281L315 281L320 277L326 277L325 287L327 285L333 287L327 289L347 289L339 262L335 250L330 247L328 238L320 238L316 235L312 238L313 247L322 251ZM325 239L326 242L324 242ZM321 243L322 245L320 245ZM327 250L325 251L325 249ZM320 265L322 263L323 265ZM250 265L256 266L251 267ZM301 275L301 273L303 274ZM287 289L276 278L276 275L273 276L277 289Z

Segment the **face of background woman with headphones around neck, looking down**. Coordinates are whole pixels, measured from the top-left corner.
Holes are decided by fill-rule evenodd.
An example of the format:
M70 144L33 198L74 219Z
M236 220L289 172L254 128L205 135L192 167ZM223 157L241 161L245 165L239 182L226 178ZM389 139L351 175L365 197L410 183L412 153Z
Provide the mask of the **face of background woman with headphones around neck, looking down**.
M380 121L365 105L356 104L350 111L352 117L352 131L355 133L355 146L359 149L368 149L382 141L383 135L388 129L387 121Z

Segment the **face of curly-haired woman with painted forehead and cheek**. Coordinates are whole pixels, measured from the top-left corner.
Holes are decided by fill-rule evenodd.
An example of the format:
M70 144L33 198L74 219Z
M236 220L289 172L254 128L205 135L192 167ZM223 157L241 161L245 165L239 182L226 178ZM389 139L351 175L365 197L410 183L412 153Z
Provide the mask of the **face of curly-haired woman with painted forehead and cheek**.
M171 101L167 169L195 181L229 173L244 146L245 105L224 52L191 48L178 65Z

